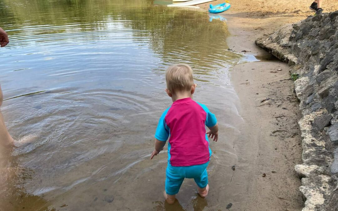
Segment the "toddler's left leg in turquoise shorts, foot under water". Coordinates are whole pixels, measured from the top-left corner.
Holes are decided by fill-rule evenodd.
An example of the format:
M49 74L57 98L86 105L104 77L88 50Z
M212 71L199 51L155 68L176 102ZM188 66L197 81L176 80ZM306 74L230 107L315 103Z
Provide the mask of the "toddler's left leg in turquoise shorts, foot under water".
M164 197L166 198L168 204L173 204L176 199L176 194L181 187L184 177L181 176L179 169L180 167L171 166L168 163L166 170L166 185Z

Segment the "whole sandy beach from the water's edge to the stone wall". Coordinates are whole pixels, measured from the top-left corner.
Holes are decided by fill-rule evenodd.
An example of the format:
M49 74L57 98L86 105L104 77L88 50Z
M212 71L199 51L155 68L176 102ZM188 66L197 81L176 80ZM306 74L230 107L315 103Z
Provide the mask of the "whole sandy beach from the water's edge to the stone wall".
M223 13L232 35L227 38L228 46L262 60L238 64L230 70L244 120L237 141L239 161L246 165L238 169L240 177L246 178L242 185L247 188L247 198L237 209L301 210L304 202L298 190L300 179L294 170L295 164L302 163L300 112L290 68L286 63L270 60L254 41L280 26L313 15L308 9L311 1L238 0L231 4L232 8ZM207 9L209 3L199 6ZM334 11L338 3L324 1L323 8L324 12Z

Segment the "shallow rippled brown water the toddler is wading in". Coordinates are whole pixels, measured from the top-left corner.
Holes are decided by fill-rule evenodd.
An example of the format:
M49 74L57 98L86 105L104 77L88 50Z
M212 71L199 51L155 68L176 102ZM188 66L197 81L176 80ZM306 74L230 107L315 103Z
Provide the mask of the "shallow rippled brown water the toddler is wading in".
M152 0L1 0L2 112L18 141L1 184L3 210L225 210L242 118L228 68L225 20ZM218 117L210 197L185 180L164 202L166 152L149 160L166 96L165 69L193 67L194 99ZM4 174L3 174L4 175ZM241 184L238 183L240 188ZM112 201L113 200L113 201Z

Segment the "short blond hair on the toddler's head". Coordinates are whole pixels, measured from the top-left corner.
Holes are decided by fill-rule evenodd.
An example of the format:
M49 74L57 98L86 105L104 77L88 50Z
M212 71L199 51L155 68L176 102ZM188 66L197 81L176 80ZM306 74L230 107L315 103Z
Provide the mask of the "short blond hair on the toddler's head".
M194 85L192 70L188 64L175 64L168 68L166 73L167 89L171 93L176 91L190 91Z

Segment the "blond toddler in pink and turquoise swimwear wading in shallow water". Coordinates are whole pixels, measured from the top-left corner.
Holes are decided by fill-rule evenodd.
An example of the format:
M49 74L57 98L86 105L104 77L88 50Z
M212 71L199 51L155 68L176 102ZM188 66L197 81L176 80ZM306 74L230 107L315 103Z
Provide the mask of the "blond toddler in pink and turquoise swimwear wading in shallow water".
M173 103L160 118L155 133L155 150L150 159L163 150L170 136L165 197L169 204L173 204L184 178L195 180L201 197L208 195L207 166L211 157L208 135L214 141L218 140L218 124L215 115L205 105L193 101L197 85L187 64L169 67L166 82L165 90ZM210 131L206 132L205 126Z

